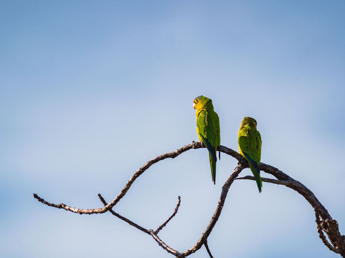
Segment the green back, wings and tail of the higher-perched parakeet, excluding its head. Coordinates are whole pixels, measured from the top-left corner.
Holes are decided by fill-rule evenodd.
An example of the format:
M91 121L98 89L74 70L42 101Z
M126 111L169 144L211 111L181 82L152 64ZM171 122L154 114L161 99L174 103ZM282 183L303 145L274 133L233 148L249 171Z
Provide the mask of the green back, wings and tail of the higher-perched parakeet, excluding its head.
M196 121L199 138L209 151L212 181L216 183L217 147L220 146L219 117L214 110L201 110Z

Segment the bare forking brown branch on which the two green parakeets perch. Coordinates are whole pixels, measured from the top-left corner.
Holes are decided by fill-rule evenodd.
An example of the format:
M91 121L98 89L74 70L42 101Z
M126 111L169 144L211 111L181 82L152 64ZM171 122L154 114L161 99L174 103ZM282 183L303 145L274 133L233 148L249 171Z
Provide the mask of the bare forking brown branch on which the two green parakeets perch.
M215 226L221 210L223 209L224 203L225 203L225 198L227 196L229 187L231 186L231 184L234 182L235 179L249 179L249 180L253 180L254 177L253 176L245 176L243 178L237 178L237 176L239 175L239 173L245 169L248 168L248 162L244 159L244 157L242 155L240 155L238 152L229 149L225 146L220 146L219 150L223 153L226 153L228 155L231 155L232 157L234 157L235 159L238 160L238 165L236 166L234 172L230 175L230 177L228 178L228 180L225 182L225 184L222 187L222 192L220 195L220 199L218 202L218 206L216 208L216 211L213 215L213 217L211 218L210 223L208 224L207 228L205 229L204 233L201 235L201 237L199 238L199 240L197 241L197 243L191 247L190 249L186 250L185 252L179 253L178 251L170 248L169 246L167 246L158 236L157 233L159 232L159 230L164 227L166 225L166 223L169 222L169 220L176 214L178 206L179 206L179 201L175 207L174 213L170 216L170 218L164 222L160 227L157 228L156 232L154 232L153 230L147 230L137 224L135 224L134 222L130 221L129 219L119 215L118 213L112 211L112 207L114 207L119 200L125 196L125 194L127 193L127 191L129 190L129 188L131 187L131 185L134 183L134 181L138 178L138 176L140 176L142 173L145 172L145 170L147 170L152 164L157 163L160 160L164 160L166 158L175 158L178 155L180 155L181 153L190 150L190 149L199 149L199 148L205 148L205 146L203 146L200 142L192 142L190 144L187 144L179 149L177 149L176 151L172 151L172 152L168 152L165 154L161 154L159 156L157 156L156 158L153 158L151 160L149 160L148 162L146 162L141 168L139 168L132 176L131 178L128 180L127 184L124 186L124 188L120 191L120 193L110 202L110 203L106 203L104 201L103 198L101 198L101 196L99 195L103 205L105 205L102 208L97 208L97 209L78 209L78 208L72 208L70 206L67 206L63 203L60 204L53 204L53 203L49 203L47 201L45 201L44 199L42 199L41 197L39 197L37 194L33 194L34 198L36 198L39 202L42 202L43 204L46 204L48 206L51 207L56 207L56 208L63 208L67 211L71 211L71 212L75 212L75 213L79 213L79 214L93 214L93 213L104 213L107 211L110 211L113 215L117 216L118 218L126 221L127 223L129 223L130 225L138 228L139 230L141 230L142 232L145 232L149 235L151 235L156 241L157 243L164 248L165 250L167 250L169 253L175 255L176 257L186 257L190 254L193 254L195 251L197 251L198 249L201 248L202 245L205 245L210 257L211 254L209 252L208 246L207 246L207 238L210 235L213 227ZM282 171L280 171L279 169L267 165L265 163L260 163L260 170L269 173L273 176L275 176L278 180L275 179L268 179L268 178L263 178L262 180L264 182L268 182L268 183L274 183L274 184L282 184L285 185L295 191L297 191L299 194L303 195L304 198L312 205L312 207L315 210L315 213L317 214L317 219L321 218L321 221L316 221L317 223L317 227L318 227L318 232L320 234L320 238L322 239L322 241L324 242L324 244L332 251L339 253L342 257L345 258L345 236L341 235L339 232L339 227L338 227L338 223L337 221L335 221L334 219L332 219L331 215L329 215L327 209L317 200L317 198L315 197L315 195L313 194L312 191L310 191L305 185L303 185L302 183L298 182L297 180L291 178L290 176L288 176L287 174L283 173ZM175 212L176 211L176 212ZM328 243L327 239L325 238L325 236L323 235L322 230L327 234L329 240L331 241L333 247L331 246L331 244ZM320 233L321 232L321 233ZM323 237L322 237L323 236ZM325 242L326 241L326 242Z

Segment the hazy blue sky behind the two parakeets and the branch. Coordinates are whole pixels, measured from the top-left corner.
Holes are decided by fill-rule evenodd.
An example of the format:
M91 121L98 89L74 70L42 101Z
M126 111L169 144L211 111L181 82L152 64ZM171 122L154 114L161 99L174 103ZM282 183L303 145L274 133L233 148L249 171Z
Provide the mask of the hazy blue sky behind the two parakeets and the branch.
M172 257L101 207L142 164L197 140L193 99L213 100L221 144L254 117L262 162L304 183L345 234L344 1L1 1L0 253ZM185 251L236 166L211 180L206 149L147 170L115 211ZM249 169L240 175L250 175ZM270 177L262 173L263 177ZM285 186L235 181L208 239L214 257L340 257ZM204 247L191 257L208 257Z

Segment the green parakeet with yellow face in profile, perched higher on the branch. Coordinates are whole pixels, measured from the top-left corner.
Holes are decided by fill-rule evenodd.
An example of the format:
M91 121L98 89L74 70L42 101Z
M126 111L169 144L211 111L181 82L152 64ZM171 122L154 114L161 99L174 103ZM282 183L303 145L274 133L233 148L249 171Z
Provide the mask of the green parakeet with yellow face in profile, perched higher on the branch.
M193 101L193 108L196 109L196 131L199 141L204 143L209 152L212 181L216 184L216 152L220 146L219 117L213 109L212 100L207 97L196 97Z

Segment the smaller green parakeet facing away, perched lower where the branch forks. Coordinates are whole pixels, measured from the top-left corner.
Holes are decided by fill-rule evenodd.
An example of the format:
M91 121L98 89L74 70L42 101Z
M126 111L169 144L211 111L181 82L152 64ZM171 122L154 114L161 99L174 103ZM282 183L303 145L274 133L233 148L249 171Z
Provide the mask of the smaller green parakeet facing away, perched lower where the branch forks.
M256 184L261 193L262 180L260 176L261 136L256 130L257 122L254 118L245 117L238 131L239 153L249 163L249 168L254 174Z

